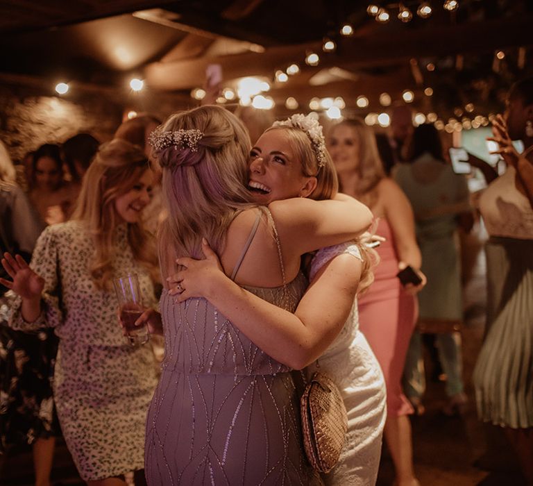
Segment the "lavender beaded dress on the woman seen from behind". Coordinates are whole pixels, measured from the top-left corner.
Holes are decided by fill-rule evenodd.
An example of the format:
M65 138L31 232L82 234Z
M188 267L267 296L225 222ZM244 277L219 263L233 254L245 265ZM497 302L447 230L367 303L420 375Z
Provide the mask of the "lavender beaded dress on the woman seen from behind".
M246 287L294 312L307 281ZM321 484L303 452L290 370L205 299L161 297L165 357L146 420L149 485Z

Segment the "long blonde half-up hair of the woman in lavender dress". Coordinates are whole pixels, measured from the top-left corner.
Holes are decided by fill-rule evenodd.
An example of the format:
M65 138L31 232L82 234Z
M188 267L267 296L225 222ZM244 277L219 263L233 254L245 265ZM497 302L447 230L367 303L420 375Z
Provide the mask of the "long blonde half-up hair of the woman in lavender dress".
M158 233L163 272L176 256L201 258L202 237L220 255L237 212L255 206L246 189L251 143L242 121L225 108L201 106L171 115L158 133L179 130L198 130L201 139L153 150L168 212Z

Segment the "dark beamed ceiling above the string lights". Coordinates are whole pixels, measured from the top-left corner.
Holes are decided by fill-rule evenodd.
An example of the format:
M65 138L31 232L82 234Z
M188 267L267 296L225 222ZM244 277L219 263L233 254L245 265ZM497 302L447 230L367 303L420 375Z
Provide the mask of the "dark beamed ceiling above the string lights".
M364 114L381 109L382 92L394 104L409 89L413 106L443 117L468 103L482 115L501 109L509 85L533 74L532 1L459 0L448 12L432 0L428 19L416 15L421 1L405 1L414 13L405 24L398 3L376 3L389 8L388 24L359 0L1 0L0 76L109 87L135 74L151 90L187 94L219 63L228 86L242 76L269 78L280 106L287 97L306 108L313 97L341 96ZM339 35L344 22L351 37ZM335 52L323 53L325 36L336 40ZM321 56L316 67L305 65L310 51ZM292 62L300 74L274 82ZM367 108L355 105L361 94Z

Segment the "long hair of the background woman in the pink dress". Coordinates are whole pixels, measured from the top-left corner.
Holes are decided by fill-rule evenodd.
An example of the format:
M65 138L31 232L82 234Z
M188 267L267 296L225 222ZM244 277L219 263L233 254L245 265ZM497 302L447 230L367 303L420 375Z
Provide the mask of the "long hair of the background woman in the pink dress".
M357 154L357 167L354 169L359 175L356 187L351 189L357 195L357 199L369 204L371 192L375 189L378 183L385 177L383 163L378 151L378 144L375 142L375 135L372 128L367 126L360 118L345 119L340 123L332 126L328 138L338 126L348 126L351 128L357 137L357 147L359 153ZM342 183L339 184L343 190ZM344 188L346 190L346 188Z

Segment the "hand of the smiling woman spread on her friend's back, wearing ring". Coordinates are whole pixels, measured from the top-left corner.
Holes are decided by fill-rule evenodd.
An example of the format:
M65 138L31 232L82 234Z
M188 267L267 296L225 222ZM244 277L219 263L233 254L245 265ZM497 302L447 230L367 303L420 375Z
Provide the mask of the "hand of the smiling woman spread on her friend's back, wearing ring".
M169 294L178 294L178 302L185 301L190 297L208 299L210 289L216 288L217 279L228 278L223 272L217 253L214 253L205 239L202 240L202 251L205 260L178 258L176 263L185 269L167 278L171 289Z

